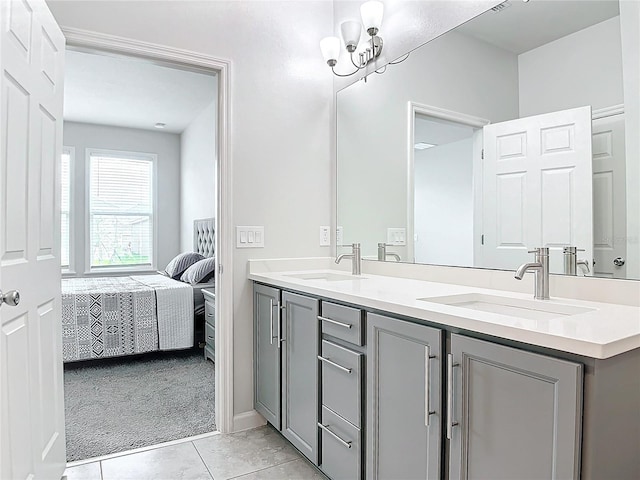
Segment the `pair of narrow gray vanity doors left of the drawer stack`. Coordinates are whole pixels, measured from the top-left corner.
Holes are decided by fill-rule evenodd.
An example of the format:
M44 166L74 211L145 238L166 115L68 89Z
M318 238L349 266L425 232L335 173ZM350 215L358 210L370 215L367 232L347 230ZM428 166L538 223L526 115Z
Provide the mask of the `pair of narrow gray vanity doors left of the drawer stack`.
M254 406L318 464L318 300L254 285Z

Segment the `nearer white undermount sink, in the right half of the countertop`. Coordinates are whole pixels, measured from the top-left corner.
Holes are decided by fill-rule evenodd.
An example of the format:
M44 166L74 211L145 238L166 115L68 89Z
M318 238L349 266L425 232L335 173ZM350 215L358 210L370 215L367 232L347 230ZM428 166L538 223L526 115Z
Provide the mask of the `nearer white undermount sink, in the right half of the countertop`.
M520 298L499 297L481 293L464 293L446 297L419 298L425 302L451 305L452 307L469 308L482 312L498 313L510 317L526 318L529 320L551 320L553 318L579 315L594 309L575 307L557 303L546 303L544 300L523 300Z

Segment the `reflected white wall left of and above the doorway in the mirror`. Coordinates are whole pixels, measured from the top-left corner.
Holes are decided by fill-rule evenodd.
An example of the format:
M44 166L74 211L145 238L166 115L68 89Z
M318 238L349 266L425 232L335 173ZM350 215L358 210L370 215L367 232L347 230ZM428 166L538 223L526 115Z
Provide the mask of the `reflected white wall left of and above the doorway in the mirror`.
M456 32L337 94L337 222L344 243L376 254L389 227L407 227L408 102L492 123L518 117L515 54ZM478 72L481 72L479 74ZM403 259L407 252L394 247Z

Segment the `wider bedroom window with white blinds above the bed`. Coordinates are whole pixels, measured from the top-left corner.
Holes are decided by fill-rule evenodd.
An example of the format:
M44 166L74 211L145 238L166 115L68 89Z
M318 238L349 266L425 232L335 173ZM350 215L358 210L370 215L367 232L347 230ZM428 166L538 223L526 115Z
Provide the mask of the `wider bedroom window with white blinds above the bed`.
M155 155L89 150L89 265L154 262Z

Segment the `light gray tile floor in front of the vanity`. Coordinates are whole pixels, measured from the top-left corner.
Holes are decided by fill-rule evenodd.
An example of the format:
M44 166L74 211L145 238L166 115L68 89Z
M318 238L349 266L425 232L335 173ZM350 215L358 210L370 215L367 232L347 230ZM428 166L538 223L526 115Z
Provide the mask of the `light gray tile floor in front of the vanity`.
M69 467L65 475L67 480L326 480L270 425Z

